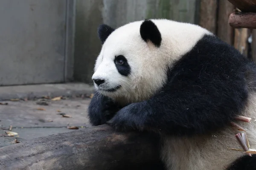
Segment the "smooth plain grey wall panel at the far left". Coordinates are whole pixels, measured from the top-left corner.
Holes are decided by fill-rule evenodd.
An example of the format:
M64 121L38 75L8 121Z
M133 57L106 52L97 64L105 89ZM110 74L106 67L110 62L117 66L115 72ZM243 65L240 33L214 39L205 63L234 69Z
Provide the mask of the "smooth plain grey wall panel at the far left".
M0 85L72 79L73 7L73 0L0 1Z

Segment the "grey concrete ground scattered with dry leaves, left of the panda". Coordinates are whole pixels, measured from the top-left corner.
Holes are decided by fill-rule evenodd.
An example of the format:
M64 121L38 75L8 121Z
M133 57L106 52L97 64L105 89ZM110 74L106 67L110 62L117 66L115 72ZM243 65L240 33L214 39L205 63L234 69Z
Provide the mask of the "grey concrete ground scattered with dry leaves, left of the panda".
M84 84L0 87L0 147L76 130L69 129L72 126L90 127L91 94L92 89ZM6 131L18 134L8 136Z

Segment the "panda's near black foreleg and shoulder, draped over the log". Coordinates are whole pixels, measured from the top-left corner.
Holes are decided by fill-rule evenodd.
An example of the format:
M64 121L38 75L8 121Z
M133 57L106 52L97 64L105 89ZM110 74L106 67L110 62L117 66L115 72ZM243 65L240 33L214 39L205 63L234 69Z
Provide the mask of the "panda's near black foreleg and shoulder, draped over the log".
M248 63L235 48L206 35L169 70L168 82L157 94L122 108L108 123L117 130L169 135L218 130L247 102Z

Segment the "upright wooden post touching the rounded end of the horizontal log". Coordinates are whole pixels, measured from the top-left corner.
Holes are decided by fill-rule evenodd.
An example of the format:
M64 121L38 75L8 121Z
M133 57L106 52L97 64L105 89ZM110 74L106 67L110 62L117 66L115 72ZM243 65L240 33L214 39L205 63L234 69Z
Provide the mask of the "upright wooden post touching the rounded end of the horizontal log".
M234 28L229 25L228 19L234 9L235 6L227 0L219 1L217 36L230 45L233 45L234 43Z

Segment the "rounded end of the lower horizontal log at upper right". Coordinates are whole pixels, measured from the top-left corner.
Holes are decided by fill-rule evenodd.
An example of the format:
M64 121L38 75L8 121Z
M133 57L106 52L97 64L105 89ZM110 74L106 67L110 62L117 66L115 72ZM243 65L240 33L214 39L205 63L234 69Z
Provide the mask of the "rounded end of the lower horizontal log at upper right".
M233 28L256 28L256 13L234 12L230 14L229 24Z

